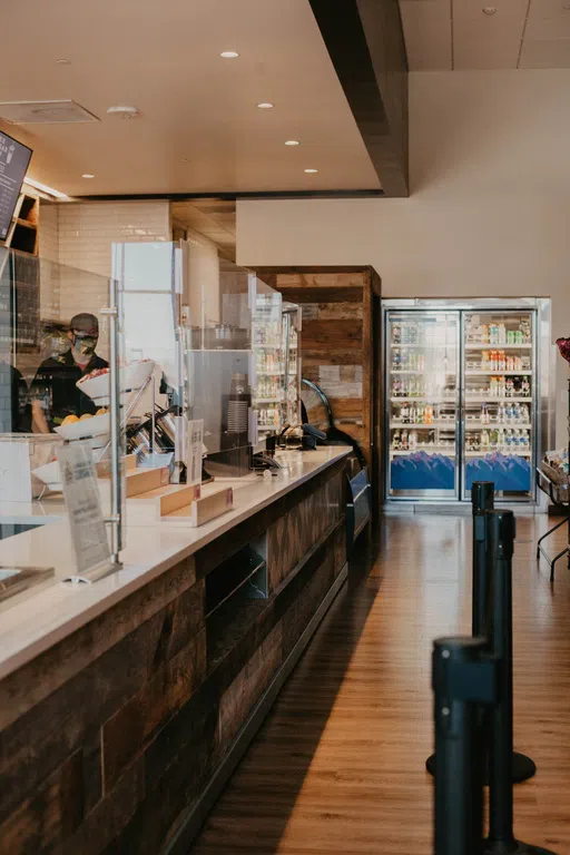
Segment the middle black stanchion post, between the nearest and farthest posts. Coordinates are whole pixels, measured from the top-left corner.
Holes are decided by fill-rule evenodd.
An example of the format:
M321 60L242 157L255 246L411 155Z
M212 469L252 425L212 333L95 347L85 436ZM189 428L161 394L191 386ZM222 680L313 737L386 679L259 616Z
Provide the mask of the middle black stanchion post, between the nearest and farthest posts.
M552 855L548 849L520 843L513 834L512 796L512 554L514 514L488 511L491 572L491 652L499 664L499 698L491 714L489 751L489 837L485 855ZM460 851L458 849L458 853Z

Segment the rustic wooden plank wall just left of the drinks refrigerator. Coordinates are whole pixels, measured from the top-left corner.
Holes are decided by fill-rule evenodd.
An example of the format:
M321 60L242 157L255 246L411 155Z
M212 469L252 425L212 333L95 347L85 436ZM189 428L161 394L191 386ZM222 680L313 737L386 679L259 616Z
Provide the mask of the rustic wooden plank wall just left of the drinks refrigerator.
M257 274L303 308L303 376L326 394L337 428L354 436L371 460L373 434L372 267L258 268ZM377 342L375 343L377 344Z

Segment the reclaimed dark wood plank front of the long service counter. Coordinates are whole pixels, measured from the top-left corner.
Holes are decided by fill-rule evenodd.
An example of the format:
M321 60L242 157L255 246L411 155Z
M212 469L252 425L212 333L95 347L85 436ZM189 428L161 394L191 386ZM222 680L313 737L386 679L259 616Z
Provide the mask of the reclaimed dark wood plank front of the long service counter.
M344 578L345 465L336 460L0 684L1 855L186 852ZM208 574L259 537L268 597L228 600L206 620Z

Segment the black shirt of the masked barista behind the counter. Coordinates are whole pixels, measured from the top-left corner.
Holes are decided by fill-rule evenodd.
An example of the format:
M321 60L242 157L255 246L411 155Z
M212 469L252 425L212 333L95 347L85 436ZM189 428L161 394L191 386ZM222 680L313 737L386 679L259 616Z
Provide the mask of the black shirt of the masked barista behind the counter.
M108 362L95 354L85 368L71 355L71 348L56 358L45 360L31 385L31 397L41 401L50 430L61 424L68 415L80 419L86 413L95 415L97 404L76 386L78 380L97 368L107 368Z

